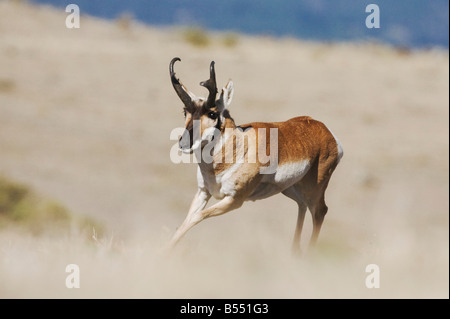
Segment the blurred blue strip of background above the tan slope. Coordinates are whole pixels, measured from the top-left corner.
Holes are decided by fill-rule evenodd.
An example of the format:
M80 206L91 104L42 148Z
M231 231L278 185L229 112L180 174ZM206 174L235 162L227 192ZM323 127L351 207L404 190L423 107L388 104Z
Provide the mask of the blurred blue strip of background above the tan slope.
M34 0L65 8L73 1ZM364 28L366 6L374 3L382 14L382 28ZM296 37L314 41L360 41L370 38L404 47L448 48L448 9L445 0L79 0L89 15L115 19L128 14L154 26L198 26L208 30L253 35Z

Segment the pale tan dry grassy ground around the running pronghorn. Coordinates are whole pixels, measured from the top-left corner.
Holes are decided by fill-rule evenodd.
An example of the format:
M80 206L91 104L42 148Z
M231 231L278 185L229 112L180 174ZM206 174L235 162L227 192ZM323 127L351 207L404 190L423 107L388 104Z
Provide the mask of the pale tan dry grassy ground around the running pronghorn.
M0 1L0 174L101 221L84 237L0 232L0 297L445 297L449 289L448 52L222 35L194 47L179 30ZM160 253L196 189L175 165L182 104L216 61L235 83L237 123L310 115L345 155L327 192L319 247L290 254L296 205L279 195L207 220ZM311 231L307 216L303 244ZM65 267L81 288L65 287ZM365 286L368 264L381 287Z

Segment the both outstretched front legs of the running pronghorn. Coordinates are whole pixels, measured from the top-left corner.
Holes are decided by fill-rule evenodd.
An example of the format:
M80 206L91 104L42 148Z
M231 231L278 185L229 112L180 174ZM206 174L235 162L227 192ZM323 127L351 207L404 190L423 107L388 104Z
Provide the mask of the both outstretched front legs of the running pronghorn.
M202 194L206 193L199 192L192 201L191 209L189 210L186 219L184 220L183 224L181 224L181 226L177 229L175 235L172 237L172 240L170 242L171 247L174 247L189 229L200 223L203 219L225 214L233 209L241 207L243 203L242 200L237 200L231 196L227 196L213 206L207 209L203 209L211 195L207 194L207 199L205 199L205 195ZM202 199L204 199L203 202L201 202ZM194 210L194 208L196 207L199 209Z

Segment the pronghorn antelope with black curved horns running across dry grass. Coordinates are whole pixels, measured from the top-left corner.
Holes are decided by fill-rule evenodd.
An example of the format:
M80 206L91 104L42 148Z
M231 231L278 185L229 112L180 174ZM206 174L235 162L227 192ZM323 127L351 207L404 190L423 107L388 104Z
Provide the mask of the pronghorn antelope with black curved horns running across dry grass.
M285 122L237 126L228 111L233 97L233 82L230 80L216 98L214 61L210 65L209 79L200 83L209 91L206 99L195 96L175 76L173 66L176 61L181 60L174 58L170 62L170 77L184 104L185 114L185 129L178 147L184 153L201 151L203 155L209 147L206 153L210 160L198 159L198 190L186 219L171 240L171 246L205 218L237 209L245 201L278 193L298 204L293 249L300 249L307 208L313 217L310 245L314 244L328 210L325 190L343 156L342 146L333 133L323 123L307 116ZM200 131L198 134L195 134L196 129ZM276 138L273 134L269 138L266 134L269 131L274 132ZM270 155L266 154L267 149L270 149ZM264 154L256 154L258 150ZM273 150L275 154L272 154ZM227 156L233 160L227 160ZM273 162L274 169L269 169ZM220 201L205 208L211 196Z

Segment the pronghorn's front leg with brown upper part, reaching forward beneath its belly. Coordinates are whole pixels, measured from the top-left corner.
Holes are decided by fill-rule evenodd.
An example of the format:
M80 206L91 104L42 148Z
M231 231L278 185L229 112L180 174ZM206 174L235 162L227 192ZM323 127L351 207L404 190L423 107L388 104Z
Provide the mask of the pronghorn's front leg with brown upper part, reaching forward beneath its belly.
M173 236L170 246L174 247L189 229L200 223L203 219L225 214L233 209L241 207L242 203L243 201L236 200L233 197L225 197L220 202L207 209L199 209L195 212L193 211L192 214L189 213L183 224L178 228Z

